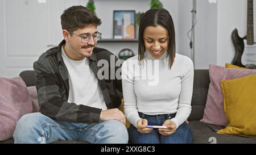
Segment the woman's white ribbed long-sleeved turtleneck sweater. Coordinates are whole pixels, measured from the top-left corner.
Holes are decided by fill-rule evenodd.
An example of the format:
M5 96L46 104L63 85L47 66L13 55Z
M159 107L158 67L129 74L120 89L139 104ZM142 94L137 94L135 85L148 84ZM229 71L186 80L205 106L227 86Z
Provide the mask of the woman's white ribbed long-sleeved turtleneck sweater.
M138 112L147 115L174 114L171 120L179 127L191 113L193 91L193 62L176 53L172 68L168 68L167 54L155 60L147 51L143 64L138 65L138 55L122 65L125 115L135 127ZM150 125L150 124L148 124Z

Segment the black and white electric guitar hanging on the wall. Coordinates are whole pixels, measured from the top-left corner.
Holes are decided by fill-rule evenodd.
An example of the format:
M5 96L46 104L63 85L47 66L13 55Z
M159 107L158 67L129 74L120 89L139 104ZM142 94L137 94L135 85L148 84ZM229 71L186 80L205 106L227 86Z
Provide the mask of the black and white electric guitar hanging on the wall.
M232 32L232 41L236 48L236 55L232 64L237 66L256 64L256 45L254 43L253 0L247 0L247 34L238 35L237 29Z

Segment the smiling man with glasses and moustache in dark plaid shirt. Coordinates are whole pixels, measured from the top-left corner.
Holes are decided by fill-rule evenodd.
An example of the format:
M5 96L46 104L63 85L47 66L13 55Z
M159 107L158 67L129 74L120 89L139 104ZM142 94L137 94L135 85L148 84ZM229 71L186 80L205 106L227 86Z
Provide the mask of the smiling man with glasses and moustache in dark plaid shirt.
M34 62L41 113L20 118L15 143L127 143L125 115L117 109L122 98L121 79L98 77L99 61L111 64L110 57L114 63L118 60L95 47L101 38L100 24L83 6L72 6L61 15L64 40ZM107 68L117 72L120 66Z

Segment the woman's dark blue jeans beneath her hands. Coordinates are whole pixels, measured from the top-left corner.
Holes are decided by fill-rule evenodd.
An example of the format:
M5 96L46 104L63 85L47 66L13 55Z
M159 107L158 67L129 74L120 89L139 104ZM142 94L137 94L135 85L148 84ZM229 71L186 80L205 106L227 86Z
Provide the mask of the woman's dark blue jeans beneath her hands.
M164 115L146 115L139 112L142 119L148 121L148 125L163 125L167 119L172 119L176 114ZM148 134L141 134L134 125L128 129L129 141L135 144L185 144L192 143L193 134L191 128L187 124L181 124L173 135L163 136L158 132L158 128L154 128Z

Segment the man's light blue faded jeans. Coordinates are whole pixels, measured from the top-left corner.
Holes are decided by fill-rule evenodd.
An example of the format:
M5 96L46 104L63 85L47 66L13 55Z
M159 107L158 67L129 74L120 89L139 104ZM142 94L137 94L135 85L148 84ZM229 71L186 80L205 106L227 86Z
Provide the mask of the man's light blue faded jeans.
M68 123L52 120L39 112L22 116L13 137L14 143L53 143L57 140L101 144L128 142L127 129L118 120L92 124Z

